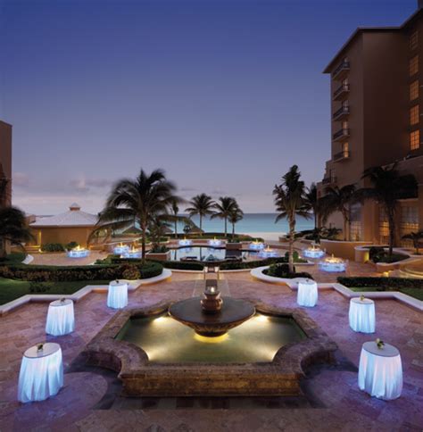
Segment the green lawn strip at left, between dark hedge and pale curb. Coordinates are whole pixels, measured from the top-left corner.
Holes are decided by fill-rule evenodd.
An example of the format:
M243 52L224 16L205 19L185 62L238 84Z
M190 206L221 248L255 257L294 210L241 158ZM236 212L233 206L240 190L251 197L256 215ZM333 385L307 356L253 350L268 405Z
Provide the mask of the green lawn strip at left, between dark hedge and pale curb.
M46 282L44 285L49 287L46 293L39 294L73 294L80 288L87 285L108 285L108 280L78 280L71 282ZM29 282L26 280L16 280L0 278L0 304L12 302L16 298L29 293Z

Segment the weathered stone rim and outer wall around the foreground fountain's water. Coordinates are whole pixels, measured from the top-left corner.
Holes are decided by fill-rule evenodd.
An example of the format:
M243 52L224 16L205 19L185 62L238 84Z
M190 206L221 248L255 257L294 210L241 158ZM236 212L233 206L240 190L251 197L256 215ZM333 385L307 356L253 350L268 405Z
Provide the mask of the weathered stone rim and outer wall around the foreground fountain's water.
M307 338L278 350L272 361L253 363L152 363L137 345L116 339L131 317L166 312L169 303L117 312L87 344L89 364L119 372L125 395L296 395L299 379L313 361L331 361L337 346L318 324L300 309L277 308L245 298L258 312L294 318ZM214 377L214 378L212 378ZM231 380L243 377L249 386ZM225 383L225 381L228 381ZM217 383L217 384L216 384Z

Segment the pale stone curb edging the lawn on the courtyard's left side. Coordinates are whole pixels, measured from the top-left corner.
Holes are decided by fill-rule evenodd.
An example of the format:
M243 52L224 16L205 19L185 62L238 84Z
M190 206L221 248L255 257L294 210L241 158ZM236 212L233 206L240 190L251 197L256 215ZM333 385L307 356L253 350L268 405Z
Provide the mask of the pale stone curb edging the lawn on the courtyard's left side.
M153 285L163 280L170 278L172 272L168 269L163 269L162 274L159 276L154 276L153 278L145 278L145 279L137 279L137 280L128 280L128 290L129 292L135 291L137 288L142 287L143 285ZM27 294L22 295L21 297L12 300L12 302L4 303L0 305L0 316L6 314L7 312L11 312L13 309L16 309L23 304L29 302L53 302L54 300L59 300L61 298L70 298L74 302L78 302L81 298L85 297L89 293L105 293L107 292L108 287L106 285L87 285L76 291L73 294L62 295L62 294Z

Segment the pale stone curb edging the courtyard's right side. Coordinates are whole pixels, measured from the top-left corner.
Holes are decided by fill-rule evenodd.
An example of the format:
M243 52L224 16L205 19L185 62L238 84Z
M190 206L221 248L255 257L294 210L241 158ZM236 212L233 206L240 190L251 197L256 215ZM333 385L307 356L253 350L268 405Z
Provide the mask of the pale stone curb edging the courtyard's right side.
M258 267L257 269L251 270L250 274L253 278L259 279L262 282L268 282L270 284L279 284L279 285L287 285L292 290L298 289L298 282L303 280L303 278L274 278L272 276L265 275L263 270L269 269L269 267ZM344 287L344 285L339 284L337 282L333 283L325 283L318 284L319 289L335 289L339 294L344 295L344 297L352 298L352 297L360 297L360 295L366 295L368 298L373 299L394 299L399 302L407 304L407 306L411 306L414 309L417 309L420 312L423 312L423 301L418 300L417 298L413 298L410 295L406 295L400 293L399 291L361 291L356 292L352 291L348 287Z

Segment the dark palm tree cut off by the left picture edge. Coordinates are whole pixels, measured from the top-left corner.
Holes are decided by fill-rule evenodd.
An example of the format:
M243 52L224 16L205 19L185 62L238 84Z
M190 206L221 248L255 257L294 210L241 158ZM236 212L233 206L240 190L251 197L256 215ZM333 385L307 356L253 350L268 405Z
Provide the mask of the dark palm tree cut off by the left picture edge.
M0 164L0 258L6 256L7 242L21 245L22 242L34 240L28 228L24 212L7 205L9 182L10 179L4 176L3 167Z

